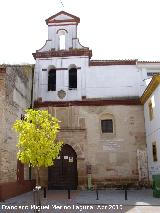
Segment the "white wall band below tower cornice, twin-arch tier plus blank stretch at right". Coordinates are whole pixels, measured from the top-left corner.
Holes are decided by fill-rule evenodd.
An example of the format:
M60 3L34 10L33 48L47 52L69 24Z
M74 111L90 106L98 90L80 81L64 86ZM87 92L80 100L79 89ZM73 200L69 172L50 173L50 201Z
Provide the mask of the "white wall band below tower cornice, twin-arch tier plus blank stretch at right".
M88 66L88 57L66 57L37 60L35 67L35 99L60 101L57 92L64 90L66 97L61 101L86 98L132 98L141 95L141 73L135 65ZM68 88L68 70L57 70L56 91L48 91L48 69L69 68L71 64L80 67L77 72L77 90Z

